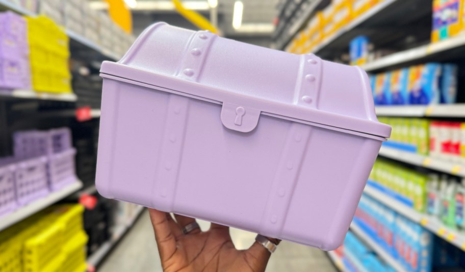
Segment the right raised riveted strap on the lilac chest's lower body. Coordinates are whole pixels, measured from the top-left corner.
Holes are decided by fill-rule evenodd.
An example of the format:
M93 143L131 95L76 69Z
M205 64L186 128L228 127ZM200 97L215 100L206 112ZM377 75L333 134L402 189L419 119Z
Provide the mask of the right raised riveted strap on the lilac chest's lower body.
M312 126L299 123L291 125L260 224L260 233L264 235L279 235L282 231L311 132Z

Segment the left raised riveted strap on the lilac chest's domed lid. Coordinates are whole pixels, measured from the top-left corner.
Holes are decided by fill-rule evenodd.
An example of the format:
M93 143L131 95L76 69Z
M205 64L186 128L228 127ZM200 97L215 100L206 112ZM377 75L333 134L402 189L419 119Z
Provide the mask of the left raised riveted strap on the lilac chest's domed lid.
M208 56L210 46L216 37L217 35L208 31L195 32L191 36L176 76L197 82L202 72L205 58Z

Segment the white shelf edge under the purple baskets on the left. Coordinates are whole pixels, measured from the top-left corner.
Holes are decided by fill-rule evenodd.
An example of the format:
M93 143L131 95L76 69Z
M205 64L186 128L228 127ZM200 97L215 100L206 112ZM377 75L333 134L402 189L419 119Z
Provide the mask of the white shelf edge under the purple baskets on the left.
M52 192L49 195L40 198L34 202L31 202L19 209L13 211L11 214L7 214L3 217L0 217L0 230L3 230L35 213L38 211L58 202L59 200L69 196L75 191L81 189L83 186L80 180L77 180L75 183L66 186L57 192Z

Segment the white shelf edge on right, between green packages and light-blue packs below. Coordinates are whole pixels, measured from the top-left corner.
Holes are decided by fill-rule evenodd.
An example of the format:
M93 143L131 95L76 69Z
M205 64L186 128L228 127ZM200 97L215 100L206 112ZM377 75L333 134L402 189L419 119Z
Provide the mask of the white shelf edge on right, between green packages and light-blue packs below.
M446 241L458 247L459 249L465 251L465 232L450 229L437 218L425 214L420 214L418 213L418 211L402 204L396 199L384 195L383 193L369 186L365 187L364 193L378 200L385 206L395 210L397 213L405 216L411 221L419 223L432 233L445 239Z

